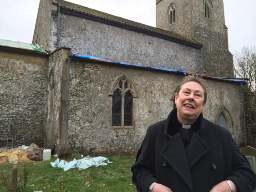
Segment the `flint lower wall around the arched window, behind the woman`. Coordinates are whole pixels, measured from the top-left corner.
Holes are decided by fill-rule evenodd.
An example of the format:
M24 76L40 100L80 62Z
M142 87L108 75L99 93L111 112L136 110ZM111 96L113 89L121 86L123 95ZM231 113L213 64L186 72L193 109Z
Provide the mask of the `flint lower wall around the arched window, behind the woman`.
M128 76L136 86L135 128L111 126L112 84ZM167 118L173 109L174 89L183 75L167 72L72 61L70 65L69 148L87 154L134 154L150 124ZM244 144L240 84L207 80L208 101L204 117L215 121L222 107L232 117L231 130L239 146Z

